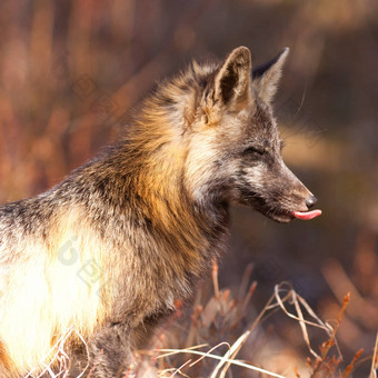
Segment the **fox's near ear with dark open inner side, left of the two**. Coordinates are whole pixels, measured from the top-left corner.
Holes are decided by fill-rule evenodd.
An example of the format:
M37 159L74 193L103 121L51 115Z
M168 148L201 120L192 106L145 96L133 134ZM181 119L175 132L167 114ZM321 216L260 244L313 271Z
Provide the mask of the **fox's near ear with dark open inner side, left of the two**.
M245 99L249 92L250 71L249 49L241 46L232 50L215 78L215 99L225 105Z

